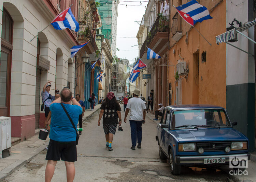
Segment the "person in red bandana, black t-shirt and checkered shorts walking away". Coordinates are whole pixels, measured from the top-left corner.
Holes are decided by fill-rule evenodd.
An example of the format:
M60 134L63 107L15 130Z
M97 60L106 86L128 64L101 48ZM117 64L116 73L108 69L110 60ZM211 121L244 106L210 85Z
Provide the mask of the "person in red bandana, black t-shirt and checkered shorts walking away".
M98 126L100 126L100 120L103 116L103 129L106 138L106 147L108 150L112 151L112 141L114 134L116 133L117 124L121 126L121 108L118 102L116 101L115 95L113 92L109 92L106 95L106 101L104 101L100 106L100 115ZM118 119L119 118L119 122Z

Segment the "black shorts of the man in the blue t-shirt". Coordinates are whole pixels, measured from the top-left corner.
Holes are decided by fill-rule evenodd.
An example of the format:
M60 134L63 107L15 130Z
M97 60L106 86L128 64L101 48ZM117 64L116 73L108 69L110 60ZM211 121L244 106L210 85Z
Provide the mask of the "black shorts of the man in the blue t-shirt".
M46 160L75 162L77 160L76 142L49 141Z

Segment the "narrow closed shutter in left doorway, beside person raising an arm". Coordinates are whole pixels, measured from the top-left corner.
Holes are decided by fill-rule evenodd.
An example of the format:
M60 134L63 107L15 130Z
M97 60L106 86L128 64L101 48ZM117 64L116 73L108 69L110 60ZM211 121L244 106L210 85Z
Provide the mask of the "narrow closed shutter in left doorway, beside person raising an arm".
M41 70L37 68L37 77L35 80L35 128L39 128L40 77L41 77Z

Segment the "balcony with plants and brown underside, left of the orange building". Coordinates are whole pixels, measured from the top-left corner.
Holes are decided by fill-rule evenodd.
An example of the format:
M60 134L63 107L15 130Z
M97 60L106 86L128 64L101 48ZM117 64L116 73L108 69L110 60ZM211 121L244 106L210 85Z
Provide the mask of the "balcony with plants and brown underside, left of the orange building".
M168 41L169 21L163 15L159 15L152 27L148 27L147 38L140 49L140 57L142 58L146 47L154 49L158 54L164 53Z

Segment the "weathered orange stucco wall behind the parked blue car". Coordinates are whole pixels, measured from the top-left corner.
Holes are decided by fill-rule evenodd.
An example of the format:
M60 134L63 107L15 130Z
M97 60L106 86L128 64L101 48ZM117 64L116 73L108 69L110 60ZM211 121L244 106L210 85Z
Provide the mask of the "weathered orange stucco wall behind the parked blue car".
M209 7L213 7L216 2L201 4L211 9ZM182 78L182 104L213 104L226 107L226 45L215 43L215 36L226 31L225 1L210 11L210 15L213 19L197 23L195 28L212 45L209 45L194 28L190 29L191 26L184 20L182 22L183 37L176 44L170 39L169 65L173 66L169 66L168 80L172 83L172 104L175 101L175 85L177 86L174 78L176 72L174 65L181 56L188 65L188 78ZM188 37L188 43L186 37ZM202 63L201 55L204 51L207 53L206 62ZM199 53L199 75L195 53Z

